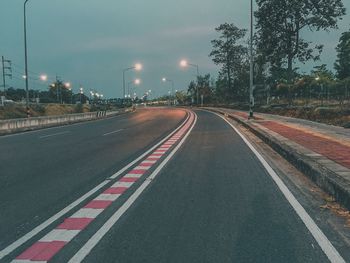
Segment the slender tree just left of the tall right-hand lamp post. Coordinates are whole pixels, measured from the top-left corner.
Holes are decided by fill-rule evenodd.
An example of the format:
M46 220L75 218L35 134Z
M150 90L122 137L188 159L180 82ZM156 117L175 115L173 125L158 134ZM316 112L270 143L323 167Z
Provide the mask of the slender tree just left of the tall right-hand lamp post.
M246 33L246 29L239 29L234 24L221 24L215 28L220 33L219 39L212 40L213 51L210 57L213 57L213 62L217 65L222 65L221 72L226 74L226 80L229 91L235 93L233 87L233 72L242 64L244 58L247 57L247 48L239 44Z

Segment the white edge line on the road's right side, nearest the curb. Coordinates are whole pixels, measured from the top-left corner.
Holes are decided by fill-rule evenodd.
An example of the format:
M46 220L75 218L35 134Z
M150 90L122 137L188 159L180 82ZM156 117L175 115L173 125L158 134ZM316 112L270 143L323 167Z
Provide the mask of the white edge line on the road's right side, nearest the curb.
M213 112L211 112L213 113ZM345 260L336 250L336 248L332 245L326 235L322 232L322 230L317 226L315 221L310 217L310 215L306 212L304 207L299 203L299 201L294 197L292 192L288 189L288 187L283 183L281 178L277 175L277 173L272 169L272 167L267 163L267 161L262 157L262 155L254 148L254 146L245 138L245 136L225 117L217 114L217 116L224 119L232 129L242 138L245 144L250 148L250 150L255 154L261 164L264 166L266 171L272 177L277 187L280 189L284 197L287 199L289 204L293 207L299 218L303 221L309 232L312 234L318 245L321 247L323 252L328 257L329 261L332 263L345 263Z

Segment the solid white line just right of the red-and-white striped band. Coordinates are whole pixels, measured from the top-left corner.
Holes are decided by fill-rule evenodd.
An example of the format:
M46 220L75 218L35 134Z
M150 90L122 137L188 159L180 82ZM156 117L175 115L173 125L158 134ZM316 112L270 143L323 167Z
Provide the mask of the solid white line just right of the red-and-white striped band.
M179 142L179 144L171 151L171 153L163 160L163 162L154 170L154 172L146 178L141 186L126 200L126 202L108 219L108 221L85 243L83 247L68 261L68 263L79 263L91 252L91 250L101 241L105 234L112 228L112 226L118 222L121 216L131 207L141 193L147 188L152 180L159 174L162 168L169 162L174 154L179 150L182 144L185 142L187 137L191 134L193 127L197 122L197 115L195 116L194 122L187 134Z

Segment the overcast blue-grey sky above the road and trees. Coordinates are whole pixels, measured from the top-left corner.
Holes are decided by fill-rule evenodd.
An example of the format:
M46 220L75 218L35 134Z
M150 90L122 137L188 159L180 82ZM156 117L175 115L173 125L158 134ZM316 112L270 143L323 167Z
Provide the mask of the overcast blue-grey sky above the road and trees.
M344 0L347 9L350 1ZM10 85L23 88L23 0L0 0L0 55L13 61ZM159 96L186 89L195 69L181 69L181 58L198 64L200 72L216 77L218 68L208 54L214 28L224 22L248 28L248 0L30 0L28 4L29 70L34 78L46 73L106 97L122 96L122 69L136 62L140 73L128 72L127 82L142 79L138 95L148 89ZM305 38L325 45L322 62L330 68L341 32L349 29L344 17L338 31L308 33ZM312 65L302 67L308 71ZM30 88L47 89L31 81Z

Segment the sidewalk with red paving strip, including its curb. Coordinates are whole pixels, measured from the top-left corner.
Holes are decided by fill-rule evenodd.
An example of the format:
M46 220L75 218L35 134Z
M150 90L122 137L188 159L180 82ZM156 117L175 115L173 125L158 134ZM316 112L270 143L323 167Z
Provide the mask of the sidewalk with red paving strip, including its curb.
M248 127L350 209L350 129L271 114L208 108Z

